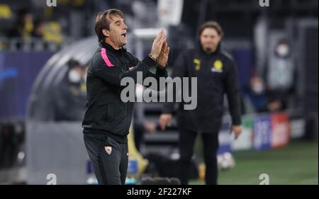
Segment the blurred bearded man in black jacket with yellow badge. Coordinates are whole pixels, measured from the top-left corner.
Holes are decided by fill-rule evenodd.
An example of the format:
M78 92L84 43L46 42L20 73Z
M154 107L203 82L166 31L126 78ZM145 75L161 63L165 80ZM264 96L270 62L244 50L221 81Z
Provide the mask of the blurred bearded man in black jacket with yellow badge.
M240 84L233 59L220 50L223 30L216 22L203 23L198 32L200 47L181 52L177 58L172 77L197 77L197 107L184 110L181 103L178 110L179 152L181 162L181 183L188 182L188 170L193 155L197 132L201 132L204 159L206 162L206 183L217 183L218 131L222 125L224 95L228 97L231 130L237 138L242 129L240 121ZM172 120L174 103L165 103L159 124L162 129Z

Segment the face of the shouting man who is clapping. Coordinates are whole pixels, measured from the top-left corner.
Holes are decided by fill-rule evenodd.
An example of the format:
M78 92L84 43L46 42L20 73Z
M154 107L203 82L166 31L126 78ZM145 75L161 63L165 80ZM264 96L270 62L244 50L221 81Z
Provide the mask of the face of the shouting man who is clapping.
M123 45L126 45L128 40L126 40L126 26L125 21L120 16L109 17L110 30L103 29L103 34L106 35L106 42L112 45L114 48L118 49Z

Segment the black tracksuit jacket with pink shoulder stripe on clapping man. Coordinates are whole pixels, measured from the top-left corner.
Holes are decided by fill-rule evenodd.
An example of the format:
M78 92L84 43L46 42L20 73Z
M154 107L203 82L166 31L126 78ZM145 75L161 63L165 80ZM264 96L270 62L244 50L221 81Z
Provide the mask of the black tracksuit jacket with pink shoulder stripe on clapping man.
M118 142L127 142L127 135L133 115L133 102L121 101L121 79L132 77L137 81L137 72L142 72L143 79L160 76L167 77L165 68L157 67L156 74L149 72L157 63L150 57L142 61L122 47L115 50L103 42L91 59L87 72L86 112L82 122L84 133L101 133Z

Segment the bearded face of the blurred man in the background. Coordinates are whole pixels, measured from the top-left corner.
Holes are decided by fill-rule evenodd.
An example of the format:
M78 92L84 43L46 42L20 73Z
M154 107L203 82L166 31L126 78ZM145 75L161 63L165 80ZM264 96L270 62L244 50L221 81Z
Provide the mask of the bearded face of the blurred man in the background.
M200 39L203 51L211 53L216 51L221 38L214 28L205 28Z

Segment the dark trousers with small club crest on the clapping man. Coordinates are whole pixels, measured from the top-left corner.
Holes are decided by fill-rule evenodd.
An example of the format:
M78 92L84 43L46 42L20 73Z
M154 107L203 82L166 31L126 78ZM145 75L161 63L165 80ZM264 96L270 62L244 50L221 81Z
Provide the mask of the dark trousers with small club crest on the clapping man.
M128 143L106 135L84 133L84 144L99 184L123 185L128 170Z

